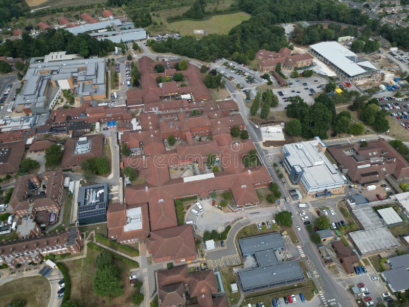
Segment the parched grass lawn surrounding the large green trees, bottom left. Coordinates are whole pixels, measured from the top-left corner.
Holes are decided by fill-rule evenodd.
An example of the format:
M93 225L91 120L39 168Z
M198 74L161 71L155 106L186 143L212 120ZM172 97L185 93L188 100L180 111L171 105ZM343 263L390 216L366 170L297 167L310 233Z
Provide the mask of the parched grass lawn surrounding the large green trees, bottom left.
M71 300L81 303L81 306L84 307L98 306L103 300L107 300L106 297L95 296L92 291L92 280L97 271L94 264L99 254L99 251L88 248L86 258L65 262L71 277ZM122 286L124 287L124 294L113 298L111 300L111 306L125 307L132 305L131 295L135 293L135 290L129 283L131 267L118 259L114 259L113 262L119 270Z

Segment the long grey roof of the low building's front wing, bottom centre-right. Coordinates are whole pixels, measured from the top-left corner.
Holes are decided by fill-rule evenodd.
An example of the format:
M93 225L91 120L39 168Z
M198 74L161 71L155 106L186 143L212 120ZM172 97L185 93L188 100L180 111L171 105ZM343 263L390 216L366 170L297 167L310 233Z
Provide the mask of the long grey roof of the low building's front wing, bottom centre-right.
M295 260L275 266L240 271L238 274L244 290L304 278L303 270Z

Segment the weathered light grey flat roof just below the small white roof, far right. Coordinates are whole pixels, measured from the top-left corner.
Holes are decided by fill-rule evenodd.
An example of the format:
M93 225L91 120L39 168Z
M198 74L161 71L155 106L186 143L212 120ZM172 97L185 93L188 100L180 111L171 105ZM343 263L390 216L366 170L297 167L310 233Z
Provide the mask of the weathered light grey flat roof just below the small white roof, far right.
M386 226L350 232L349 235L362 254L399 246L399 242Z

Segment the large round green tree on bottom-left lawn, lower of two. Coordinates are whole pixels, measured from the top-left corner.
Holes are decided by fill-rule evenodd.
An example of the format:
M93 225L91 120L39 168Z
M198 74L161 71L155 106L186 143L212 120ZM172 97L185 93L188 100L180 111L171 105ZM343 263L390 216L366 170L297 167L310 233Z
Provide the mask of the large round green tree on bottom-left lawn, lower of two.
M118 269L113 265L98 269L93 279L94 294L108 299L122 295L124 290L117 274Z

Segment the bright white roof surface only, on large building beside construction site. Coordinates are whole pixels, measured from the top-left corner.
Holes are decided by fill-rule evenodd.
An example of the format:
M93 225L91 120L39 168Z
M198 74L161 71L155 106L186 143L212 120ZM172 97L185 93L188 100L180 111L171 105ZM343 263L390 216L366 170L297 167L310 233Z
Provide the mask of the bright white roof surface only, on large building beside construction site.
M319 42L310 45L310 48L351 77L367 71L378 70L369 61L356 62L357 55L336 41Z

